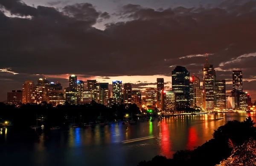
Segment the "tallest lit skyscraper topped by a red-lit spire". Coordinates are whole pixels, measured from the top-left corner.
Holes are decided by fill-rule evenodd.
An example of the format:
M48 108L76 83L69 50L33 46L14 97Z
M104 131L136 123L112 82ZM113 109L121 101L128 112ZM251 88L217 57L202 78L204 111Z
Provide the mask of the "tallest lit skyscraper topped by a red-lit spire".
M216 73L213 65L206 60L203 68L204 109L214 109Z

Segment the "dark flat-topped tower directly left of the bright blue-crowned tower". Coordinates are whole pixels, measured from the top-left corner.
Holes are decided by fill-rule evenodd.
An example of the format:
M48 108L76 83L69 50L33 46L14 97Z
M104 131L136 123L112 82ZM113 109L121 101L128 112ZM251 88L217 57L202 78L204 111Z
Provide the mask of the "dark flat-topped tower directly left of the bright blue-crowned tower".
M108 83L96 83L96 98L98 99L97 103L106 104L106 99L110 96Z

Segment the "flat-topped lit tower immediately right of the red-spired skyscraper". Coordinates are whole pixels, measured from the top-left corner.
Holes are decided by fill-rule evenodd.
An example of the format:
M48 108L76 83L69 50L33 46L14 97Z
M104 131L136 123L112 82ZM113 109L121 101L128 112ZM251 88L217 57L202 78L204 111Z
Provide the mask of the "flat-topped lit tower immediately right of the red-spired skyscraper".
M215 108L226 109L226 80L216 80Z

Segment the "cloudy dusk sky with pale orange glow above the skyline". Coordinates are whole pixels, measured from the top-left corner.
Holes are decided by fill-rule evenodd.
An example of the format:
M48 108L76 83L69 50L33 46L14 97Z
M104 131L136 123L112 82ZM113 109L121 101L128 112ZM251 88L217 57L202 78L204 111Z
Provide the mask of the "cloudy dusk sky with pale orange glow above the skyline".
M202 80L205 54L232 90L256 99L255 0L0 0L0 101L46 77L172 88L175 66Z

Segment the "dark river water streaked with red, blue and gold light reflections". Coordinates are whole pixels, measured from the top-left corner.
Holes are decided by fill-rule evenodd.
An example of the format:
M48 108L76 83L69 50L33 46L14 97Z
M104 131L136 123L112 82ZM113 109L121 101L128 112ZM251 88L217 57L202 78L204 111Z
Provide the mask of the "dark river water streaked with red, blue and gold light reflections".
M47 137L42 133L38 139L7 128L0 132L0 163L4 166L137 166L156 155L171 158L177 150L201 146L227 120L243 121L248 116L256 120L255 113L183 115L134 125L116 123L61 129ZM148 136L154 138L122 143Z

